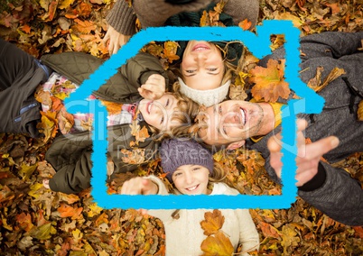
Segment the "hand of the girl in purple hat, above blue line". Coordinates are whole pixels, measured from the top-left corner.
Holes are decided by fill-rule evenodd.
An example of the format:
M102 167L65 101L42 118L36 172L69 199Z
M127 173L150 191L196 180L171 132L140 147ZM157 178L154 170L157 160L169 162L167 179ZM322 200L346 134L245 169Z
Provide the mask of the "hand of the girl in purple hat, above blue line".
M131 178L127 180L121 188L123 195L154 195L159 187L148 178Z

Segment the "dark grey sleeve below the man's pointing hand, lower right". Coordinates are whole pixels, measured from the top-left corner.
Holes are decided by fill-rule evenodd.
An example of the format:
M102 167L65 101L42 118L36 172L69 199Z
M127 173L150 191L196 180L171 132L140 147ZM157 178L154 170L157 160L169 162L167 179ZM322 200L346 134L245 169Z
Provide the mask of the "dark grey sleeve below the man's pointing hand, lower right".
M363 225L363 190L357 179L344 169L321 162L325 182L312 191L299 190L304 201L332 219L349 225Z

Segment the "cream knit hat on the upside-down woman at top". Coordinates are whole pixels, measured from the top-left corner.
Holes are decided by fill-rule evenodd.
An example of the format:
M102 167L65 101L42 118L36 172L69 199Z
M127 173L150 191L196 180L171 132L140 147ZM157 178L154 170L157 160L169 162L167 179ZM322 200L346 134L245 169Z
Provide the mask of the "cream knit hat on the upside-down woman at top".
M222 102L227 97L230 86L230 80L228 80L225 84L215 89L197 90L188 87L181 78L178 78L178 81L181 85L181 94L191 98L196 103L207 107Z

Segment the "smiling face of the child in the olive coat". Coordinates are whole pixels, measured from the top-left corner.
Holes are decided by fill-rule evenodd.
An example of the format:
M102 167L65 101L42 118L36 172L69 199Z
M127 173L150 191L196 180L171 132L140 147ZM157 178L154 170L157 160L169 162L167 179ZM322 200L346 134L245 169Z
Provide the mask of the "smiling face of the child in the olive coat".
M172 114L177 103L177 99L172 94L166 93L157 100L141 100L139 110L146 123L160 131L170 131Z

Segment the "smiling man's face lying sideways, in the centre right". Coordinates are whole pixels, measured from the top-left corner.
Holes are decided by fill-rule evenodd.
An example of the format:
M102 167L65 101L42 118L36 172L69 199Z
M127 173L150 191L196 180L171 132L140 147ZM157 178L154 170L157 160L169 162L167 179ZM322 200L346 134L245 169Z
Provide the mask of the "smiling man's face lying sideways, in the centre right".
M257 103L228 100L209 106L204 114L208 128L201 128L198 134L209 145L226 145L263 135L260 132L264 110Z

